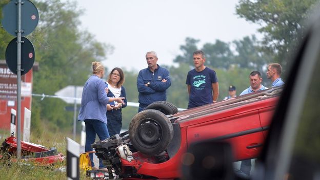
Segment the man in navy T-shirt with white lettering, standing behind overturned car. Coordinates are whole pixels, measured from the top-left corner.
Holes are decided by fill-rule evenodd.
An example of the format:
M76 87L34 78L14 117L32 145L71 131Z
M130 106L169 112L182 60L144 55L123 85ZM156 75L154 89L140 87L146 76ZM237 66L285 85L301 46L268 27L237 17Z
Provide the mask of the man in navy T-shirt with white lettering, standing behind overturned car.
M205 53L201 50L193 53L194 69L188 72L187 89L188 109L215 103L219 96L219 84L215 71L205 66Z

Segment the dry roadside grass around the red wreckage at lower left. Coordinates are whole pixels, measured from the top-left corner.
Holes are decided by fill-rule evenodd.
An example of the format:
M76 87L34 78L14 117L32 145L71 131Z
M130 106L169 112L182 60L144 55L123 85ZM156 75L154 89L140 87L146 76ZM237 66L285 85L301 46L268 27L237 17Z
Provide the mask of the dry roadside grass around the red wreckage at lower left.
M0 130L0 143L9 137L9 131ZM43 132L31 133L30 142L34 144L41 144L47 148L55 147L59 153L67 154L66 137L71 138L72 134L61 132L50 132L44 129ZM71 138L72 139L72 138ZM77 137L79 139L79 137ZM10 164L10 165L8 165ZM34 164L18 163L8 160L0 161L0 179L42 179L42 180L56 180L67 179L66 161L58 163L49 167L37 166ZM59 169L64 169L59 170ZM80 179L91 179L86 177L86 173L80 170Z

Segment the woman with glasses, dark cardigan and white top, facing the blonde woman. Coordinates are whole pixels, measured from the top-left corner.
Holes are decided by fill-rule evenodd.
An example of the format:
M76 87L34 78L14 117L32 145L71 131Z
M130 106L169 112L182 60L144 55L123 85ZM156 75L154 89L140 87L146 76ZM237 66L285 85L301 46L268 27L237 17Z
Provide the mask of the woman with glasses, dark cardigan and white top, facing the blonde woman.
M108 97L124 97L126 98L126 89L123 86L125 82L125 75L120 68L114 68L106 82L108 87ZM110 137L115 134L119 134L122 128L122 108L127 106L127 98L124 100L125 104L117 103L116 101L109 102L107 104L107 121L108 121L108 131Z

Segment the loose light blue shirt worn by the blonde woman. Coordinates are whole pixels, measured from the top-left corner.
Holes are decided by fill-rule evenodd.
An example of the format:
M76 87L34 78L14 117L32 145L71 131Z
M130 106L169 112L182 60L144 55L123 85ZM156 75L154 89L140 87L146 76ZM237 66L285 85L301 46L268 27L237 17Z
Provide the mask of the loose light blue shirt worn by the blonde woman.
M105 82L96 75L90 76L84 85L78 120L99 120L107 124L107 103Z

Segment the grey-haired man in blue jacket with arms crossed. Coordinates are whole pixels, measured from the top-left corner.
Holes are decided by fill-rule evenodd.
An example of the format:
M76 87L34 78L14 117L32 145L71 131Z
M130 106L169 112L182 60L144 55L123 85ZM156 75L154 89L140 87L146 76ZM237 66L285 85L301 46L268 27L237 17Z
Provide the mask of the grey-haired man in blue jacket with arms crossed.
M154 51L147 52L146 60L148 68L140 70L137 77L138 112L155 101L166 101L167 89L171 85L169 71L157 64L158 57Z

